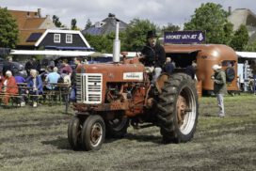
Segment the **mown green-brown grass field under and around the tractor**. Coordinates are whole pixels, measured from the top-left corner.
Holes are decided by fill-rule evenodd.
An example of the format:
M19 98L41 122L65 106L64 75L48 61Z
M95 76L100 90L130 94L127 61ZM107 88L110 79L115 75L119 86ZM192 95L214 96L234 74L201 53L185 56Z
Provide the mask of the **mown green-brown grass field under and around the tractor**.
M217 117L216 98L200 99L195 137L161 143L159 128L129 128L95 152L73 151L64 106L0 108L0 170L255 170L256 96L225 97L227 117Z

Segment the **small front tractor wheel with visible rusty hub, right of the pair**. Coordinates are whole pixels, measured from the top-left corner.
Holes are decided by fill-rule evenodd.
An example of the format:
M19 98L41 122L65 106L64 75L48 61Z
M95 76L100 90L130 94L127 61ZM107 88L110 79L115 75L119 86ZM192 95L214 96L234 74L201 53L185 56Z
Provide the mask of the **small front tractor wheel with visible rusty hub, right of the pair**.
M89 116L82 128L82 147L85 150L102 148L105 136L104 119L99 115Z

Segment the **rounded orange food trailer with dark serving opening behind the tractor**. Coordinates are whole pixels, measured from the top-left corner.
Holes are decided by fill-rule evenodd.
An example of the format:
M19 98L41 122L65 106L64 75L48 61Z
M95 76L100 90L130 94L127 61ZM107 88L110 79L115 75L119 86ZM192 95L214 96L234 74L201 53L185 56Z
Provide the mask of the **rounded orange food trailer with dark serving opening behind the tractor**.
M237 61L238 57L231 47L221 44L166 44L167 56L176 64L176 69L190 65L193 60L197 62L198 92L212 92L214 83L211 76L215 64L226 70L228 91L238 91Z

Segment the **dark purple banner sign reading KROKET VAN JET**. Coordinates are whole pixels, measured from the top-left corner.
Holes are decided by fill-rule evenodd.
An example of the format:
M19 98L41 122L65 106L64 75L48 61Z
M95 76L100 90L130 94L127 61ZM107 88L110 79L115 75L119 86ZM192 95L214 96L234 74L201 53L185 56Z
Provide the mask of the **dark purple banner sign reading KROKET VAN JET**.
M165 32L165 43L191 44L205 42L205 32L203 31L175 31Z

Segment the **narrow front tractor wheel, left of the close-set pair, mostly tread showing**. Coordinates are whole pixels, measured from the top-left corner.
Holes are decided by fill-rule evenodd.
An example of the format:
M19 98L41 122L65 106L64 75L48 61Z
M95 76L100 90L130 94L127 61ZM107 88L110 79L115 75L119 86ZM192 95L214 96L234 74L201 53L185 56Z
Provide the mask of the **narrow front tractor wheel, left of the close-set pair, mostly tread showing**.
M82 125L78 117L72 117L68 127L68 139L73 150L81 148Z

